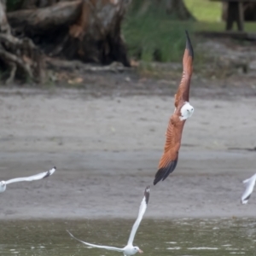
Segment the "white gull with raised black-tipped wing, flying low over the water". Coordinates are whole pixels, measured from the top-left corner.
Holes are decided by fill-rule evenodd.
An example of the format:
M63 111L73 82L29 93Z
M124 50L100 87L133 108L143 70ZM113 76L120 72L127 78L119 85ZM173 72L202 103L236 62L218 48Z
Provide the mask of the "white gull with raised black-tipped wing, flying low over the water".
M100 245L92 244L92 243L89 243L89 242L86 242L86 241L79 240L78 238L74 237L68 230L67 230L67 232L74 239L76 239L76 240L78 240L78 241L80 241L80 242L82 242L85 245L90 246L90 247L96 247L96 248L102 248L102 249L107 249L107 250L111 250L111 251L117 251L117 252L120 252L120 253L124 253L125 256L134 255L136 253L143 253L143 251L139 247L134 247L132 245L132 243L133 243L133 240L134 240L134 236L137 232L137 228L138 228L139 224L141 223L141 221L143 219L144 213L146 212L146 209L147 209L147 206L148 206L148 200L149 200L149 187L147 187L145 189L143 201L141 202L141 206L140 206L140 209L139 209L137 220L132 226L131 234L130 234L128 243L123 248L100 246Z

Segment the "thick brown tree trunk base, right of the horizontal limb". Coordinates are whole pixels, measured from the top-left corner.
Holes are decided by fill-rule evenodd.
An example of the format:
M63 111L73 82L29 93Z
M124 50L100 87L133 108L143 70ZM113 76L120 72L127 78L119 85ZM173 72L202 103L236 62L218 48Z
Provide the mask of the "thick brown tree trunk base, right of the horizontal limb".
M119 61L130 66L120 28L128 3L126 0L83 1L82 15L69 28L63 54L83 61L103 64Z

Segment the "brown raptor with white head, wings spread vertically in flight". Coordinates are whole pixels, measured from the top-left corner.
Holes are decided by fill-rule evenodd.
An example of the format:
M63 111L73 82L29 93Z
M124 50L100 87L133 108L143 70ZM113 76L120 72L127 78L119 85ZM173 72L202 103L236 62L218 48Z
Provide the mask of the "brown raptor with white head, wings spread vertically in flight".
M164 154L160 159L158 172L156 172L154 177L154 185L160 180L165 180L177 166L183 126L186 119L194 112L194 108L189 104L189 84L193 72L194 53L188 32L186 32L186 37L187 43L183 55L183 76L175 95L175 110L167 127Z

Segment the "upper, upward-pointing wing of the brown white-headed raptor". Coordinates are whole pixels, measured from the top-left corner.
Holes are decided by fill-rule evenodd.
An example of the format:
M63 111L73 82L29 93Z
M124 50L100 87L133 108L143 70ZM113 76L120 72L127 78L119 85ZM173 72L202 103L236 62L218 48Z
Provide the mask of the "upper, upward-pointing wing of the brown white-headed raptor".
M186 48L183 55L183 76L175 96L175 108L181 101L189 102L189 85L193 73L194 51L187 31L186 38Z

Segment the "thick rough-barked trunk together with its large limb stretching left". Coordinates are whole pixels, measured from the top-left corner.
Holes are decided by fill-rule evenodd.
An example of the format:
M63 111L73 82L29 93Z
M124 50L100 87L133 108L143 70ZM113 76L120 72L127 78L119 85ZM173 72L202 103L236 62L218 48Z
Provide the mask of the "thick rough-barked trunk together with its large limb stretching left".
M33 0L27 1L33 6ZM9 13L8 19L16 35L32 38L46 55L101 64L119 61L130 66L120 32L130 1L47 2L49 6L44 8Z

